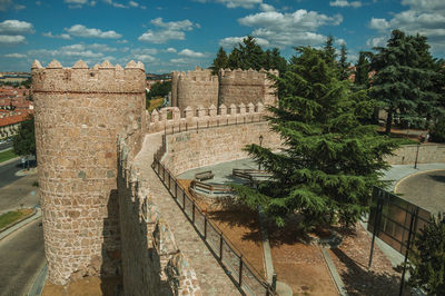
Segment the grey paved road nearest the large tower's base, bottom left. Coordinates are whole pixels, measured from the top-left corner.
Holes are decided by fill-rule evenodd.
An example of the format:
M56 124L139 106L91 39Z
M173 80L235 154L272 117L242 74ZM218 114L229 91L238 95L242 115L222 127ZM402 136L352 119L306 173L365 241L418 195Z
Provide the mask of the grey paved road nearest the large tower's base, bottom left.
M40 218L0 240L0 295L26 295L43 263Z

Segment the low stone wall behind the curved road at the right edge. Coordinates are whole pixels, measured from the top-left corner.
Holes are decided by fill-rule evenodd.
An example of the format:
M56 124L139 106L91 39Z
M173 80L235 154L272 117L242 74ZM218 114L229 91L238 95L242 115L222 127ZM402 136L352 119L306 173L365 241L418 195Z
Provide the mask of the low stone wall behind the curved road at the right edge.
M411 165L416 161L417 145L404 145L386 158L390 165ZM445 145L423 144L418 147L417 164L445 162Z

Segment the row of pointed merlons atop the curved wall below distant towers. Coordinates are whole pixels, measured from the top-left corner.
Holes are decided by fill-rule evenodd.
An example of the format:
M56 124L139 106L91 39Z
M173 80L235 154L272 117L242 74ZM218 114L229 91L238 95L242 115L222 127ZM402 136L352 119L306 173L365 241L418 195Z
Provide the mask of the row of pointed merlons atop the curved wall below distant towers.
M261 102L257 105L241 102L238 106L231 103L229 107L220 105L219 108L214 105L207 108L188 106L182 111L178 107L167 107L146 115L147 132L154 134L171 129L178 131L207 126L256 122L263 120L265 116L265 107Z

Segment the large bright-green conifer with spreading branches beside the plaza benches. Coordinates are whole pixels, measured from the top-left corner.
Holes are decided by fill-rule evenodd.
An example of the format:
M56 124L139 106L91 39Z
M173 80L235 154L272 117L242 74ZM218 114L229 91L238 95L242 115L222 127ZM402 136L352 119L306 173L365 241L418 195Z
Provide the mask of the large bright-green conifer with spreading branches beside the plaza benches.
M270 107L271 129L285 141L275 154L258 145L246 148L273 175L257 188L234 186L240 200L284 225L303 215L301 226L355 223L367 210L374 185L382 185L384 157L397 146L363 125L373 111L365 91L339 81L324 50L296 48L289 70L277 79L278 107Z

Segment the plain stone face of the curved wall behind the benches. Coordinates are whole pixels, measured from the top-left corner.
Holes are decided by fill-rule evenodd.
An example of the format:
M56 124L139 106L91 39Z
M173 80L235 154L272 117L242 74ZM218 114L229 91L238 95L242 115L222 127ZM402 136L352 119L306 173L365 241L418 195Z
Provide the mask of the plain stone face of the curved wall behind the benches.
M248 155L243 148L259 144L259 136L263 136L263 147L274 150L281 147L279 135L271 132L266 121L167 135L162 162L177 176L192 168L246 158Z

